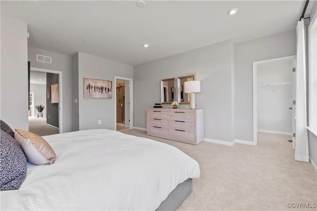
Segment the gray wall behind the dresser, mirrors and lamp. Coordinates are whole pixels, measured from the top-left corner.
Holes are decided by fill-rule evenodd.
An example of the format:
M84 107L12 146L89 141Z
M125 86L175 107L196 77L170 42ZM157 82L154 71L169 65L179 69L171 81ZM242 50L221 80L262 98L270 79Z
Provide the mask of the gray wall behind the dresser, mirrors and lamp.
M160 102L161 79L196 74L205 137L232 142L232 51L232 42L225 41L134 66L134 126L146 128L146 109Z

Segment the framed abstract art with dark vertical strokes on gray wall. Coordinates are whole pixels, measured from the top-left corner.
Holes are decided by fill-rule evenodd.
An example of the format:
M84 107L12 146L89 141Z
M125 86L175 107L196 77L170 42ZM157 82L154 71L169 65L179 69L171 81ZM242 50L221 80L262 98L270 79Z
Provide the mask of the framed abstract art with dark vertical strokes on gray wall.
M84 78L84 98L112 98L112 81L95 78Z

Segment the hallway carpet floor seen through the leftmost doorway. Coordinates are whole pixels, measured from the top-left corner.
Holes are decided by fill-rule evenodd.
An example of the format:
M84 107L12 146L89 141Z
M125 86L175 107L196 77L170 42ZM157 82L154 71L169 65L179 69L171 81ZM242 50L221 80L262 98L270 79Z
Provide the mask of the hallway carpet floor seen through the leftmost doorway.
M29 118L29 131L39 136L48 136L58 133L58 129L46 124L46 118Z

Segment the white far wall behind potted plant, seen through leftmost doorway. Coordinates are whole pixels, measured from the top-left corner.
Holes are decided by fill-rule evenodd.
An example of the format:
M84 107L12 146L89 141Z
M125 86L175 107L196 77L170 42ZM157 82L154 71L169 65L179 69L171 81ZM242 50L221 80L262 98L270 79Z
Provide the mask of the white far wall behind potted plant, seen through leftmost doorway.
M46 85L30 84L30 92L34 92L34 117L38 115L38 110L35 108L37 105L45 106L43 117L46 117Z

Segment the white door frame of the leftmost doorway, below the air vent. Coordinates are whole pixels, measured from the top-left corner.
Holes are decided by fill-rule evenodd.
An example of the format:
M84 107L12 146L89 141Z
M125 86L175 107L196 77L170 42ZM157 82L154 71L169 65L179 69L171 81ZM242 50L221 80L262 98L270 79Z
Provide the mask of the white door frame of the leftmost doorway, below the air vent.
M58 74L58 130L59 133L63 133L63 92L62 92L62 72L61 71L56 71L56 70L49 70L49 69L42 69L42 68L36 68L36 67L31 67L30 71L37 71L37 72L46 72L46 73L54 73Z

